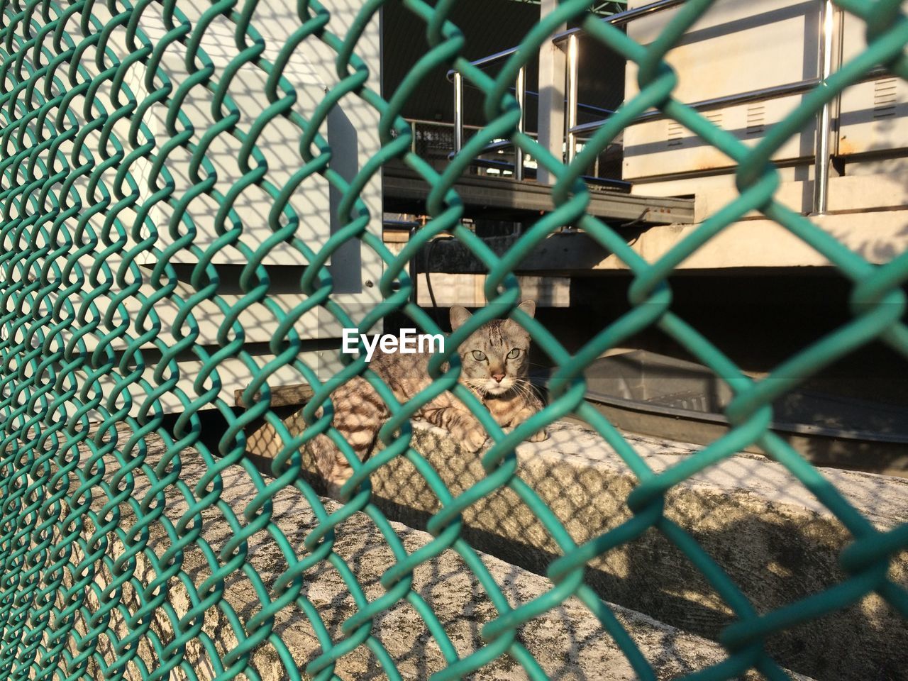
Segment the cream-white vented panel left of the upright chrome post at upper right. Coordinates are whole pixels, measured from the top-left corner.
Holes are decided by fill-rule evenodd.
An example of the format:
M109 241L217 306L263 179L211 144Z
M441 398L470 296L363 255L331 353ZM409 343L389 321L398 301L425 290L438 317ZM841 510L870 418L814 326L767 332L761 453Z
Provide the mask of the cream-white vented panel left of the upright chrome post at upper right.
M630 8L647 0L631 0ZM678 75L677 100L690 104L816 75L818 7L815 0L717 0L666 55ZM628 25L641 44L652 43L677 15L677 9L647 16ZM626 98L639 92L637 64L627 64ZM801 96L740 104L704 112L707 119L747 144L781 121ZM814 123L804 127L775 153L776 161L807 158L814 153ZM625 132L624 177L701 173L734 166L731 159L674 121L639 123Z

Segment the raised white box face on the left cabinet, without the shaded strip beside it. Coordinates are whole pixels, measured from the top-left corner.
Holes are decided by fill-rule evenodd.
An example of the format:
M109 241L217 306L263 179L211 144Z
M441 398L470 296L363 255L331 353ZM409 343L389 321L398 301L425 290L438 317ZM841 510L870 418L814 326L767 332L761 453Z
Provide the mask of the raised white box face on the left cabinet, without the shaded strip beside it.
M272 2L271 5L276 5L276 3ZM160 15L153 13L153 6L143 13L140 25L154 42L163 37L165 28ZM271 7L271 10L267 19L256 16L253 19L253 25L264 34L262 37L266 40L262 56L273 62L291 33L293 26L291 20L295 18L295 13L288 5L284 10L283 22L281 22L278 19L280 13L275 11L274 7ZM223 16L218 16L212 20L202 35L201 50L211 59L215 69L212 84L222 80L225 69L239 52L235 44L234 32L235 25ZM311 64L311 42L307 41L301 45L283 72L284 77L300 95L300 104L304 102L311 104L310 107L297 105L297 111L304 116L311 114L314 104L328 89L327 82L321 78L323 74L318 73ZM164 73L173 79L174 86L186 82L195 71L194 68L187 69L185 61L186 49L179 43L169 46L163 55L161 67ZM267 77L262 69L252 64L243 64L233 76L227 92L230 101L241 116L237 123L238 130L249 131L252 124L268 107L269 102L264 94ZM147 94L143 86L138 94L139 96ZM181 110L192 124L194 133L191 143L193 146L197 146L202 143L205 134L209 133L212 127L222 120L222 117L228 115L230 109L227 105L223 105L220 111L212 111L212 92L208 87L199 84L192 87L190 94L183 100ZM155 105L145 116L145 123L158 140L157 151L161 149L161 143L165 142L169 136L165 124L166 115L167 107ZM326 136L327 127L327 125L323 125L320 131ZM178 122L176 128L183 130L184 123ZM271 119L267 124L256 143L267 163L268 171L264 178L265 182L271 183L275 187L281 187L290 180L292 173L301 167L303 162L299 152L300 135L300 129L281 116ZM189 150L180 146L168 153L166 168L175 183L174 195L176 197L185 195L193 184L198 183L200 178L207 179L212 171L216 173L217 177L212 192L221 195L230 192L234 184L242 180L243 175L239 163L242 139L239 137L239 135L232 134L232 131L219 133L204 153L205 160L210 162L212 167L210 169L202 168L196 178L190 177L192 153ZM258 165L252 159L251 164L252 167ZM254 250L271 235L268 216L272 203L273 200L262 187L248 186L232 202L234 214L228 218L224 227L228 230L235 229L237 226L242 227L242 245ZM321 175L313 175L301 184L291 201L291 207L300 218L299 234L307 244L315 246L327 240L331 220L330 188ZM194 198L188 205L187 213L192 217L192 222L195 223L198 230L193 246L205 250L212 245L217 237L215 216L220 208L221 203L206 193ZM188 230L188 226L184 223L171 225L174 214L176 214L175 207L164 202L159 202L153 209L153 222L161 235L160 243L162 244L173 241L171 229L175 228L179 234ZM177 219L179 219L179 215L177 215ZM173 262L196 262L197 257L188 249L183 249L174 253L172 260ZM215 254L212 262L243 263L246 261L247 258L242 249L228 245ZM304 264L305 262L304 255L287 244L275 246L265 260L266 264Z

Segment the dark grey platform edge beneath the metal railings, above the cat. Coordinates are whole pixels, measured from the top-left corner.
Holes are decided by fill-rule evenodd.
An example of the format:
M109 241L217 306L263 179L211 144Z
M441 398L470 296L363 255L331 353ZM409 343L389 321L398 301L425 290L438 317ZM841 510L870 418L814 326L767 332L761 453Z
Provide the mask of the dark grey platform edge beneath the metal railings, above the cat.
M389 163L382 173L385 212L424 213L431 186L402 163ZM486 175L464 175L454 187L467 217L519 222L555 209L551 188L532 180L518 182ZM590 215L609 222L689 224L694 200L633 196L590 187Z

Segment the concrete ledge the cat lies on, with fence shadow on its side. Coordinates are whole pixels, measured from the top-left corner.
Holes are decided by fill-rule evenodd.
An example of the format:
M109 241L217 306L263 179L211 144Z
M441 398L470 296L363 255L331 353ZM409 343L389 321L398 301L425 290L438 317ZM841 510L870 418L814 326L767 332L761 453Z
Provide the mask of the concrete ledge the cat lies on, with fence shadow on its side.
M551 438L518 448L518 475L555 512L578 542L629 517L635 479L594 432L557 424ZM696 452L686 446L627 436L656 470ZM447 434L418 427L414 447L453 494L484 473L481 455L468 454ZM908 480L823 469L875 527L908 518ZM438 500L406 459L373 476L375 496L391 518L423 527ZM760 612L796 601L844 579L836 558L849 542L842 525L780 465L757 455L737 456L687 480L666 498L666 515L686 528L716 559ZM464 513L465 536L498 558L544 573L558 555L535 515L508 489ZM891 577L908 584L908 552ZM587 583L610 602L670 625L716 637L732 614L686 557L656 531L594 560ZM772 637L767 649L785 666L822 679L908 678L908 623L871 595L853 607Z

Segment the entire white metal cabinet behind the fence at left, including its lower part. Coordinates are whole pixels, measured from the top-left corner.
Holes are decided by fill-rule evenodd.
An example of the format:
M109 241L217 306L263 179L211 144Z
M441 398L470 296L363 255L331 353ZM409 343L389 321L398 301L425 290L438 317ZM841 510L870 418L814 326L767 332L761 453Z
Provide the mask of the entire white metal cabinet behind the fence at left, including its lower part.
M331 24L329 29L337 35L346 35L353 18L360 11L361 3L359 0L330 0L325 3L331 12ZM160 17L157 24L153 13L158 5L149 5L143 11L142 26L145 32L152 40L162 35L163 25ZM183 7L187 12L192 12L192 7L188 9ZM192 21L198 18L204 7L201 5L195 8L196 15L190 16ZM101 14L105 9L103 5L95 5L95 10ZM271 62L275 59L278 51L286 43L289 36L300 25L301 20L296 14L296 5L282 3L280 0L263 0L257 5L256 14L252 17L252 25L256 27L265 41L266 49L263 57ZM102 20L104 17L99 17ZM74 21L77 22L78 16ZM74 28L77 31L77 28ZM111 46L116 54L125 54L123 27L114 30L111 35ZM202 49L211 58L216 69L215 78L220 79L223 69L229 64L230 60L239 52L235 43L235 25L229 23L226 19L219 17L206 31L202 40ZM118 42L119 41L119 42ZM357 44L356 54L370 66L370 79L367 85L374 91L380 90L380 31L379 18L376 18L365 29L360 41ZM174 85L183 82L185 77L189 76L183 64L185 52L184 48L178 44L172 44L164 53L163 69L173 76ZM326 92L336 85L339 76L336 73L336 54L331 48L322 44L318 38L310 37L301 44L293 56L290 64L284 71L284 75L296 90L298 95L294 104L296 110L304 117L310 118L316 105L319 104ZM89 50L83 59L83 64L89 74L98 73L94 64L94 54ZM147 94L143 79L145 76L144 68L136 65L125 80L127 86L132 90L133 95L141 102ZM229 94L241 112L241 121L239 126L243 130L249 130L254 120L262 114L267 106L267 98L264 94L264 84L266 76L261 70L253 66L243 66L231 82ZM175 92L175 91L174 91ZM174 92L171 93L173 96ZM116 108L110 94L109 84L104 84L95 93L94 115L102 112L110 113ZM211 111L212 93L202 84L193 87L189 97L183 102L182 111L190 118L193 128L192 143L201 143L202 137L208 131L212 124L215 123L217 116ZM71 110L81 113L83 111L84 97L78 97L71 106ZM226 112L224 112L226 113ZM152 130L155 136L156 150L160 151L161 145L169 139L165 130L164 120L166 116L166 107L162 104L155 104L153 108L145 115L144 123ZM378 120L379 114L369 105L363 102L356 94L346 95L333 108L328 120L322 124L321 133L331 144L331 168L350 182L367 160L380 148L378 139ZM120 140L126 140L129 131L129 120L124 120L114 125L114 133ZM184 123L178 123L178 128L183 128ZM96 150L100 144L98 140L99 132L91 133L86 146L88 149ZM286 183L292 173L295 173L302 164L301 154L299 151L299 138L301 131L299 128L279 118L269 123L259 138L257 146L262 151L266 163L268 164L268 174L266 180L277 187ZM140 138L140 143L144 139ZM213 141L205 153L205 157L212 161L214 171L217 173L217 183L215 189L218 192L225 193L237 180L240 179L242 172L237 163L237 157L241 141L235 139L229 132L220 133ZM125 153L132 151L132 147L125 144ZM108 144L108 150L111 145ZM64 153L70 151L69 146L64 145ZM189 179L189 163L191 155L185 150L177 148L171 153L166 162L166 168L173 176L176 184L174 195L177 199L183 196L183 193L192 185ZM95 158L95 163L99 159ZM109 168L102 174L101 186L109 192L114 193L114 175L118 168L116 166ZM140 185L142 199L140 203L147 199L151 194L148 187L148 178L151 171L151 163L140 161L134 163L131 167L131 173ZM202 176L208 171L203 171ZM85 187L86 179L80 179L74 188L84 207L94 206L101 197L101 192L95 192L94 197L87 196ZM160 183L159 185L160 186ZM127 191L128 187L125 188ZM117 197L119 198L119 197ZM380 238L381 230L381 191L380 177L374 176L366 183L365 188L360 192L360 198L365 205L366 210L370 213L370 223L367 229ZM114 199L115 200L115 199ZM296 235L305 242L313 252L318 252L323 244L329 240L331 234L337 232L343 226L343 222L338 217L337 209L341 200L341 192L329 187L327 181L321 176L313 176L301 183L298 190L291 199L291 205L296 214L300 217L300 224L296 229ZM244 340L247 343L244 348L244 354L248 360L228 359L219 365L219 378L222 386L221 398L232 404L232 391L237 388L245 388L252 380L252 376L258 370L250 366L252 362L255 366L262 368L268 362L273 360L273 356L267 350L267 343L274 337L278 321L273 311L271 311L264 302L257 302L246 306L248 302L244 297L244 292L239 288L237 283L238 272L249 261L248 252L259 247L259 245L271 235L271 228L267 224L267 216L271 210L272 199L267 192L255 186L248 187L239 196L233 204L235 214L232 215L232 221L228 222L228 229L233 224L242 226L242 244L248 249L245 252L235 246L227 246L220 252L217 252L212 259L218 274L221 278L221 285L217 291L219 303L213 301L196 301L192 308L192 315L198 323L200 336L196 342L197 351L189 353L185 358L178 360L181 374L181 388L187 393L194 395L192 381L198 374L200 362L197 359L205 352L208 355L218 350L217 331L222 326L225 316L225 309L230 310L234 306L242 305L245 309L240 315L239 321L245 332ZM196 233L192 240L192 248L186 248L170 254L168 262L176 266L180 283L177 291L173 296L179 300L188 300L195 292L188 283L189 273L192 267L199 261L200 255L208 249L214 242L217 234L214 230L214 215L219 209L217 202L208 197L200 196L192 200L188 206L188 213L192 215L195 223ZM85 214L85 211L83 212ZM169 219L173 215L173 207L167 205L158 205L151 213L152 223L157 232L157 241L155 247L158 250L165 249L173 243L174 234L170 232ZM104 229L106 214L98 212L88 220L88 231L94 233L97 238ZM76 229L76 222L79 216L70 219L67 222L65 233L72 235ZM127 232L132 230L135 222L135 212L132 209L126 209L119 214L119 220L122 228ZM183 235L187 232L185 222L175 225L176 236ZM148 230L145 229L142 236L146 235ZM78 245L85 243L89 237L84 234L76 240L75 249ZM111 232L111 240L116 241L119 238L117 229ZM88 269L96 264L97 254L101 252L108 242L104 239L99 240L98 246L93 252L87 254L83 259L85 274ZM134 241L129 238L126 249L133 247ZM61 266L65 259L58 259ZM114 254L107 258L106 266L109 271L116 273L120 268L122 258ZM308 266L306 258L301 253L287 244L278 244L273 247L265 258L263 263L266 266L271 289L268 294L268 301L276 304L284 311L291 311L301 305L306 297L301 293L299 281L301 273ZM143 253L137 261L139 265L140 276L143 278L143 287L141 293L149 295L153 291L151 284L151 273L153 268L159 264L157 259L150 253ZM359 240L352 240L344 244L340 250L335 252L331 257L328 269L331 272L333 283L333 292L331 300L341 306L341 309L349 315L353 324L359 323L362 317L368 312L375 309L380 304L381 294L378 283L383 270L383 262L380 256L370 248L364 246ZM102 281L110 280L104 272L100 273ZM170 275L165 277L168 279ZM70 281L73 277L70 277ZM127 277L130 280L130 277ZM61 286L63 288L65 283ZM86 291L94 289L94 285L86 283ZM98 315L103 316L108 311L114 301L119 289L116 284L111 291L104 296L94 300L94 310L85 305L84 292L77 291L70 294L70 302L74 305L76 311L84 310L89 319L94 319ZM48 302L55 300L54 294L49 297ZM123 301L125 313L131 320L135 320L136 313L140 307L139 300L131 297ZM158 314L162 322L162 330L156 339L158 345L168 347L173 344L180 331L175 328L176 314L178 306L172 301L159 301L154 306L154 311ZM117 323L120 321L120 313L115 317ZM302 341L325 341L324 346L331 348L333 345L339 345L341 335L341 324L327 311L321 307L307 312L294 325L294 331L298 333ZM365 331L363 329L363 331ZM380 332L380 328L373 328L372 332ZM134 327L129 330L131 337L136 337L138 332ZM185 332L185 329L183 330ZM104 340L108 330L102 326L94 333L84 336L84 348L93 351L102 342L111 342ZM232 334L230 335L232 338ZM68 341L69 337L63 339ZM111 342L111 350L122 351L123 341ZM305 346L312 347L311 344ZM321 343L320 343L320 346ZM204 348L204 350L201 350ZM146 361L154 363L157 349L149 344L143 348L143 354ZM197 357L192 357L195 354ZM338 350L305 350L300 355L301 360L307 361L312 369L317 370L321 378L328 378L340 366L340 355ZM100 379L96 387L113 386L112 380L115 376ZM154 381L151 375L146 379L152 384ZM271 385L281 385L287 383L300 383L303 377L300 372L291 368L285 368L275 374L271 379ZM144 391L138 386L131 386L133 400L137 407L139 401L143 400ZM173 395L165 396L162 403L165 409L179 409L179 400L172 399Z

